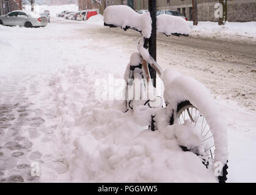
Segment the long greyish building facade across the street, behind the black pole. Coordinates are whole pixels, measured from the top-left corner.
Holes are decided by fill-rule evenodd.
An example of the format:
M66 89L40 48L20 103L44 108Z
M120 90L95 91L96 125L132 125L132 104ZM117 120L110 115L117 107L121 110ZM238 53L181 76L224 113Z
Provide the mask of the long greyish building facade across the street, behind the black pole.
M94 0L78 0L79 9L98 9ZM108 5L129 5L134 10L148 9L148 0L101 0ZM197 0L197 17L199 21L218 21L214 16L218 0ZM157 9L178 10L192 20L192 0L157 0ZM97 7L98 6L98 7ZM255 0L227 0L227 20L232 22L256 21Z

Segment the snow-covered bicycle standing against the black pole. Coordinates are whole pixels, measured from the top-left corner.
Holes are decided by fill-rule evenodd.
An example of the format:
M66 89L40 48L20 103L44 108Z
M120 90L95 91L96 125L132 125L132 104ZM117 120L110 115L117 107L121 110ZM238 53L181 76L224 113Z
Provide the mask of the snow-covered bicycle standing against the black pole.
M221 112L202 83L172 68L163 70L149 54L148 40L152 32L150 13L140 15L126 5L109 6L104 10L104 25L137 30L142 35L137 46L138 52L131 55L125 71L126 111L134 112L134 118L142 126L154 127L155 130L174 130L174 137L181 149L194 152L207 168L214 171L218 168L219 182L225 182L228 141ZM188 36L190 28L183 18L159 15L156 31L167 36ZM163 80L163 95L158 94L152 85L149 66Z

